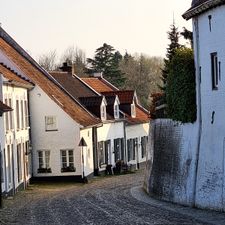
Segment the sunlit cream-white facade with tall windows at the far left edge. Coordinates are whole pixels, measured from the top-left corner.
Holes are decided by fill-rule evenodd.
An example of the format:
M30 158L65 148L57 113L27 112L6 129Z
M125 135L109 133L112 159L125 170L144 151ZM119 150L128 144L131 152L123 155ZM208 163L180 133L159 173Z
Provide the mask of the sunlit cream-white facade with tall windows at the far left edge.
M2 143L2 191L14 194L26 187L31 178L27 89L3 79L3 102L13 111L4 113Z

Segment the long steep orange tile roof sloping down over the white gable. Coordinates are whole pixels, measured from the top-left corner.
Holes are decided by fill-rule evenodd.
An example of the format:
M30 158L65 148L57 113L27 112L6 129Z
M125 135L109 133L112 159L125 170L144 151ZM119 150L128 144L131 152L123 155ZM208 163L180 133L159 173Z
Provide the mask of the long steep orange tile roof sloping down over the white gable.
M0 50L10 58L72 119L83 126L93 126L101 121L75 102L63 88L47 74L2 28L0 28ZM49 76L49 77L48 77Z

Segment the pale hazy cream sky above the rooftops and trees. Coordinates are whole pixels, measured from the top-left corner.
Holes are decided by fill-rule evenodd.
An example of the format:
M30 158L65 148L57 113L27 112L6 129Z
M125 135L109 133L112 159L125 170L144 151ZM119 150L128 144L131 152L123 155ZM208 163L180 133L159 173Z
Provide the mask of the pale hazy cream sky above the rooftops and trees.
M31 56L69 46L87 57L103 43L122 54L165 56L173 23L192 29L182 14L191 0L0 0L0 23Z

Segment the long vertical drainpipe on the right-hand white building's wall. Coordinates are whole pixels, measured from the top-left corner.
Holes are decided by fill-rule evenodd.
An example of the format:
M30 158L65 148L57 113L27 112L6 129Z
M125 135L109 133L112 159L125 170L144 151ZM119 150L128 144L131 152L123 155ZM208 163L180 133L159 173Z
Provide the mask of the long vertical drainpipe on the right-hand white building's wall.
M198 18L195 18L193 21L195 33L196 33L196 94L197 94L197 121L199 123L198 127L198 140L197 140L197 151L196 151L196 165L195 165L195 174L194 174L194 193L193 193L193 205L196 206L196 193L197 193L197 181L198 181L198 166L199 166L199 155L201 147L201 135L202 135L202 109L201 109L201 67L200 67L200 57L199 57L199 27L198 27Z

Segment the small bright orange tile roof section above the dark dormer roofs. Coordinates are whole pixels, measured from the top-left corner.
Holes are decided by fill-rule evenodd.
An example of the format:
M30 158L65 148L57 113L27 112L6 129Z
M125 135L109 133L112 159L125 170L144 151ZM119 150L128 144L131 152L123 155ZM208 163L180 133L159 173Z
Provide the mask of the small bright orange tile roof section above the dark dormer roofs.
M93 88L98 93L107 92L107 91L116 91L116 87L108 83L105 79L102 78L81 78L87 85Z

